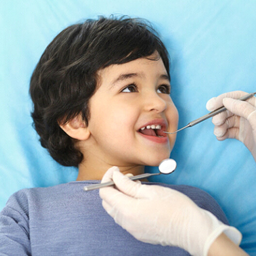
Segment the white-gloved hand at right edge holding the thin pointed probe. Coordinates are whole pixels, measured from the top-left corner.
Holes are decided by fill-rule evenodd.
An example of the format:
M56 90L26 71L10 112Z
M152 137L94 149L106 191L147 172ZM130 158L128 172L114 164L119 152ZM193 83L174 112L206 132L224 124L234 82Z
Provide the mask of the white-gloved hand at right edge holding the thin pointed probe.
M206 108L213 111L224 105L228 111L212 117L214 134L219 141L226 138L241 141L256 160L256 97L246 101L237 100L246 94L236 91L213 97L208 100Z

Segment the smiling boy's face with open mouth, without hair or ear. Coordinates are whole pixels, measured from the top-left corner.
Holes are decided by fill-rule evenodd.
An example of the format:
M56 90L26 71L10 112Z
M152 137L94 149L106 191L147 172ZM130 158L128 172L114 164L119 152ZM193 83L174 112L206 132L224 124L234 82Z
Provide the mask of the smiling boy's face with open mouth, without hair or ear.
M169 158L176 135L162 131L176 130L178 112L169 96L162 60L114 64L98 75L99 88L89 102L90 152L117 166L157 166ZM148 125L160 125L164 137L157 137L152 129L141 130Z

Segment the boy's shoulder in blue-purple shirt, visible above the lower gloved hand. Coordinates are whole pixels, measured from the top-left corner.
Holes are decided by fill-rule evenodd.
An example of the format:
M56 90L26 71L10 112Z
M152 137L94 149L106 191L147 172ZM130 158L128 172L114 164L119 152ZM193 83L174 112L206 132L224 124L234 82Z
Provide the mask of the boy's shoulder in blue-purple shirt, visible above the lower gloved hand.
M224 224L228 224L228 220L225 216L224 211L217 203L217 201L209 195L207 192L188 185L169 185L169 184L159 184L164 187L175 189L179 192L190 197L200 208L206 209L214 214L220 221Z

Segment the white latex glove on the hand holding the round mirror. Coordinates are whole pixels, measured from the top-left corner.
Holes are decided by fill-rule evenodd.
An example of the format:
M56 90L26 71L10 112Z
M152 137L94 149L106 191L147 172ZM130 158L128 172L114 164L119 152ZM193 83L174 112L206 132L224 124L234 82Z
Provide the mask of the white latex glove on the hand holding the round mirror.
M224 232L240 243L240 232L199 208L188 196L169 188L142 185L110 168L102 182L113 180L115 187L100 189L102 206L115 222L136 239L178 246L194 256L207 256L212 242Z

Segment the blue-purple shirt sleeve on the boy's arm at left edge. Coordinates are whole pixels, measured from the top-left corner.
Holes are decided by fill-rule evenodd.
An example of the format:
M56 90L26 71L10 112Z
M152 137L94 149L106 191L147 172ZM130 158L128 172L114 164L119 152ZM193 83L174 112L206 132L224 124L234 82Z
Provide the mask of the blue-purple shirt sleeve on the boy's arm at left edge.
M10 197L0 212L0 256L31 256L29 215L24 193Z

